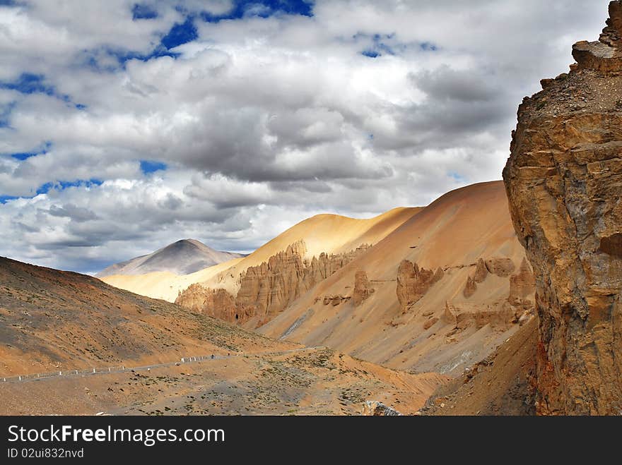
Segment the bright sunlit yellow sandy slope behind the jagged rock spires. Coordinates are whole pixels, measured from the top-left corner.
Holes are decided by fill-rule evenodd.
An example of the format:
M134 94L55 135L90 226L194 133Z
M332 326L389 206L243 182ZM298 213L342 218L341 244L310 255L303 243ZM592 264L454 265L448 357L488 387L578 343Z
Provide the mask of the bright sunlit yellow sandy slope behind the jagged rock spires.
M394 208L370 219L317 215L295 224L245 258L230 260L226 264L221 263L193 274L179 276L172 273L149 273L132 277L109 276L102 280L136 294L168 301L175 301L179 290L195 282L214 288L222 287L235 295L241 272L267 261L291 243L304 239L309 257L322 252L348 252L362 243L377 243L420 210L417 207Z

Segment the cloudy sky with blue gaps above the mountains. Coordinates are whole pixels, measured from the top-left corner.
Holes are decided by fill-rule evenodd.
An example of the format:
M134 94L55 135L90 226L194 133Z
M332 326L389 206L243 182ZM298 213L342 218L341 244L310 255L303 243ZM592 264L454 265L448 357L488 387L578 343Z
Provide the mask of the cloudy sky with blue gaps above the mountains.
M248 252L500 179L606 0L0 0L0 255Z

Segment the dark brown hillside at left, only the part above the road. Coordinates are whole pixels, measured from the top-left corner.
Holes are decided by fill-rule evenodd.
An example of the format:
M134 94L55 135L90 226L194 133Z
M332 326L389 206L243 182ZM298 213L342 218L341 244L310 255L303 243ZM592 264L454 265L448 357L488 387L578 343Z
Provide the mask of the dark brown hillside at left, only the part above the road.
M0 258L0 339L4 376L272 345L221 320L93 277L8 258Z

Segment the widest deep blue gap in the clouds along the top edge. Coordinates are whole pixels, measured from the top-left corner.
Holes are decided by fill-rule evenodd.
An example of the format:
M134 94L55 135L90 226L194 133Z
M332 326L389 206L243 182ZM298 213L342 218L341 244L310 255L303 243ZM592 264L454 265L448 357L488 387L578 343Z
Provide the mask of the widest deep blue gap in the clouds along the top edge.
M245 16L269 18L277 14L313 16L313 1L305 0L236 0L228 13L212 15L204 11L201 19L207 23L221 20L240 19Z

